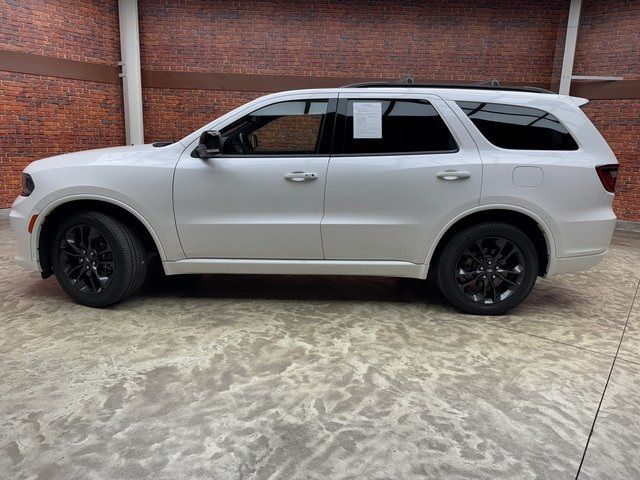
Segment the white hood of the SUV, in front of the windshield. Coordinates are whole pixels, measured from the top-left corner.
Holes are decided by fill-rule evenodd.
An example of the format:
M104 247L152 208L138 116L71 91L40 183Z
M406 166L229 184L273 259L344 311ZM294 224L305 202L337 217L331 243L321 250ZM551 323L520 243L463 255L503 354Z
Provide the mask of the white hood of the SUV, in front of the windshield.
M38 172L40 170L50 170L52 168L71 167L76 165L104 165L104 164L124 164L148 152L156 150L152 144L128 145L124 147L98 148L95 150L84 150L81 152L65 153L54 157L43 158L29 164L26 172Z

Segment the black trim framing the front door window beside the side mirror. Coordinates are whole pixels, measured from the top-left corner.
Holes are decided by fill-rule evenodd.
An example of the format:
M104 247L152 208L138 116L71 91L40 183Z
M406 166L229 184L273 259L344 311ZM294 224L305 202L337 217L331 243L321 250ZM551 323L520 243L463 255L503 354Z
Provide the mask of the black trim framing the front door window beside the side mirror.
M306 158L306 157L329 157L331 155L331 145L332 145L332 137L336 122L336 110L338 104L338 97L318 97L318 98L292 98L288 100L281 100L278 102L269 103L267 105L263 105L262 107L253 110L250 113L247 113L237 120L228 123L220 130L227 128L229 125L237 122L238 120L242 120L248 115L251 115L253 112L260 110L262 108L270 107L272 105L277 105L279 103L288 103L288 102L327 102L327 111L325 113L324 121L320 126L320 132L318 135L319 141L316 143L316 149L318 150L316 153L260 153L260 154L251 154L251 155L243 155L243 154L233 154L233 153L221 153L220 155L216 155L213 158ZM197 146L197 145L196 145Z

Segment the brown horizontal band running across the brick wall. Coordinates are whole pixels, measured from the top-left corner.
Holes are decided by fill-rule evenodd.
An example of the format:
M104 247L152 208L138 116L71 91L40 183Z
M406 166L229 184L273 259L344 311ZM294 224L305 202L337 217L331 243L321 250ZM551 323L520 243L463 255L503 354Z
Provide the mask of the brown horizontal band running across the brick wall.
M120 83L120 67L91 62L67 60L32 53L0 50L0 71L45 75L111 84ZM245 92L275 92L299 88L340 87L350 83L380 81L380 78L259 75L244 73L176 72L143 70L143 88L234 90ZM388 80L388 79L386 79ZM416 82L438 82L437 79L416 79ZM449 83L472 83L447 80ZM504 82L505 86L541 87L557 91L557 84L545 82ZM575 81L571 95L590 100L640 99L640 80Z

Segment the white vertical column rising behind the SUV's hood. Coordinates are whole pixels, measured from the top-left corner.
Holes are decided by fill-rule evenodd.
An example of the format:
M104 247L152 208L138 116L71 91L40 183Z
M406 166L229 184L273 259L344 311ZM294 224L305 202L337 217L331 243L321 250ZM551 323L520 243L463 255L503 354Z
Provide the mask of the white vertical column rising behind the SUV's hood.
M138 0L118 0L118 16L126 142L136 145L144 143Z

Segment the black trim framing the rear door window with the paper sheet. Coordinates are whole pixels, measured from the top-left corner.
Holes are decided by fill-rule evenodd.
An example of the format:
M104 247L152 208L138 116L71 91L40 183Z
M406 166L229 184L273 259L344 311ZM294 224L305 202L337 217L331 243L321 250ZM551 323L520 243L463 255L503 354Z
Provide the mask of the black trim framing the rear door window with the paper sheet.
M412 101L425 103L427 105L431 105L433 109L436 111L438 116L442 119L445 126L449 130L453 141L456 144L456 148L450 150L425 150L419 152L382 152L382 153L344 153L344 144L346 142L346 121L347 121L347 106L349 101L380 101L380 102L389 102L391 100L396 101ZM444 119L444 117L440 114L436 106L427 99L424 98L405 98L405 97L387 97L377 96L377 97L351 97L351 96L341 96L338 99L338 108L335 112L335 127L333 134L333 143L331 148L331 156L332 157L399 157L399 156L415 156L415 155L450 155L453 153L458 153L460 151L460 142L456 138L454 134L454 129L451 128L449 123Z

